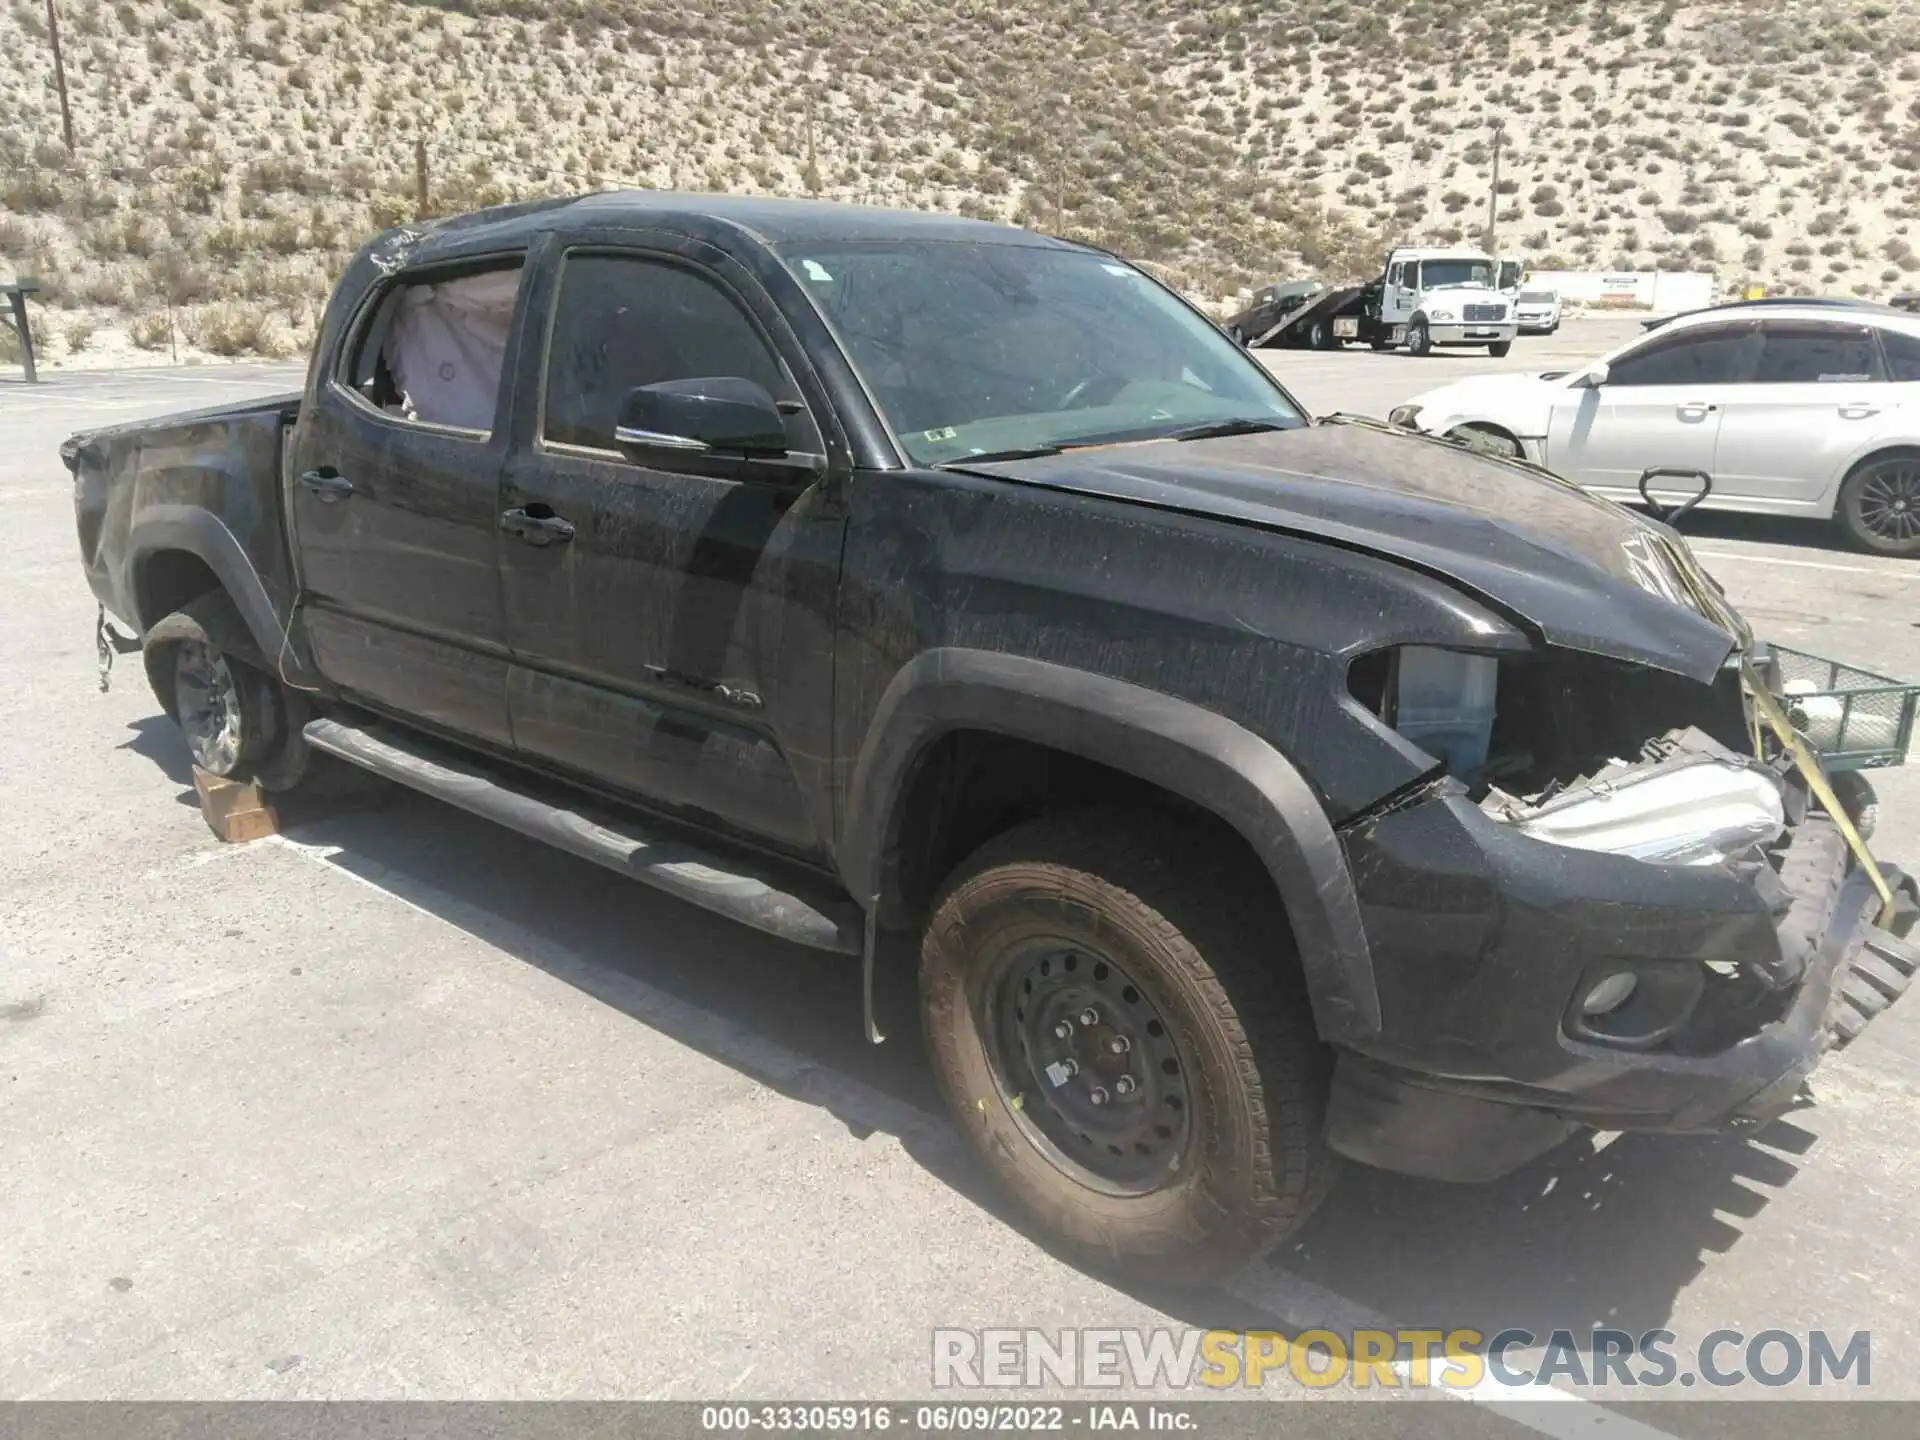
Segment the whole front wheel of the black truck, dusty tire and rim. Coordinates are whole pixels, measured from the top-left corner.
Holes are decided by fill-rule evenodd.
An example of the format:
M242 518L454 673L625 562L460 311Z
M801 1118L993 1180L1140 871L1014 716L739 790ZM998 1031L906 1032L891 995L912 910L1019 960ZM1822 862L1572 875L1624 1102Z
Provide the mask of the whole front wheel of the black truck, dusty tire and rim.
M1089 810L989 841L935 906L920 995L960 1129L1048 1238L1206 1284L1325 1194L1329 1056L1271 879L1167 831Z

